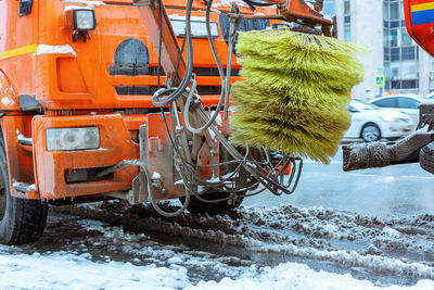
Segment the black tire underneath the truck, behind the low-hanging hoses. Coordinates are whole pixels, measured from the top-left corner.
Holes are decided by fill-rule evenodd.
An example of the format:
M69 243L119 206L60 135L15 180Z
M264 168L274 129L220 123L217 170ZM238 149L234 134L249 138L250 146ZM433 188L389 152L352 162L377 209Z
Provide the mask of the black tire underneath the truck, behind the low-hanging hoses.
M226 192L208 192L201 196L204 200L219 200L228 198L229 193ZM244 198L238 198L234 204L229 204L228 201L221 201L217 203L209 203L209 202L202 202L196 197L190 197L189 210L192 214L204 214L207 213L208 215L218 215L222 214L224 212L232 209L237 209L241 205ZM186 201L184 197L179 198L179 200L183 203Z

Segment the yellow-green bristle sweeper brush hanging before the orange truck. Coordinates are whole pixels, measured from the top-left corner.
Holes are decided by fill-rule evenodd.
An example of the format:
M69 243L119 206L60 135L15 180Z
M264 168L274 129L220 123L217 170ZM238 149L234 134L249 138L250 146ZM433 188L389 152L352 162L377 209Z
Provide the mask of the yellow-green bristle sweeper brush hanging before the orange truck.
M241 33L243 81L231 89L238 105L231 141L328 163L350 115L349 90L363 79L361 48L334 38L265 30Z

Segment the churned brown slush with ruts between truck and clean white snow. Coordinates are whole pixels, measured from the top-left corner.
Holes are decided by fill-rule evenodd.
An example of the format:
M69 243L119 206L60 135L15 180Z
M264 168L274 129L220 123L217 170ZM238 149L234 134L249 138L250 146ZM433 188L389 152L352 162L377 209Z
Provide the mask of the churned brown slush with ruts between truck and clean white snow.
M169 211L177 209L175 203L170 204L164 206L173 207L167 209ZM264 267L278 266L276 263L269 264L276 257L281 263L303 261L303 264L316 272L322 269L329 274L333 272L333 275L357 274L357 280L369 280L374 286L382 287L393 286L397 279L400 280L398 286L414 286L423 279L434 279L432 215L380 218L323 207L281 205L272 209L245 206L224 216L188 214L164 218L155 216L152 206L129 209L117 202L74 206L73 212L85 218L115 218L118 220L115 224L122 226L93 226L90 231L99 230L104 234L97 240L90 240L91 243L111 244L114 240L114 249L117 250L112 251L120 251L125 255L158 266L170 268L177 264L187 267L189 273L192 267L193 272L207 273L205 276L197 274L200 279L197 275L192 278L192 274L189 274L191 282L199 282L206 277L214 277L216 282L224 278L239 280L245 278L243 275L252 267L257 272L252 277L257 277L264 272ZM233 255L234 252L225 256L220 256L221 253L216 256L213 251L197 254L190 248L192 245L149 245L152 236L135 236L124 232L123 227L139 232L159 232L163 237L169 235L173 241L178 237L192 240L193 244L197 241L215 244L218 252L225 251L227 247L234 247L239 249L237 252L247 252L252 257L260 259L244 260L245 254ZM122 248L118 248L120 244ZM239 265L224 262L228 259L237 260ZM309 264L309 261L317 262ZM318 263L326 266L318 268ZM330 265L334 266L330 268Z

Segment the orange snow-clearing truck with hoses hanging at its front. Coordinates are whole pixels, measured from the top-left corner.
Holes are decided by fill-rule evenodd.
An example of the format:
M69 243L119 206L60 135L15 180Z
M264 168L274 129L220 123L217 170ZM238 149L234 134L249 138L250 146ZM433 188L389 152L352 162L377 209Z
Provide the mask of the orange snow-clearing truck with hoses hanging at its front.
M222 67L226 70L228 60L231 62L233 83L240 79L240 65L234 54L226 56L230 2L233 1L213 4L209 27ZM278 15L277 8L269 4L279 1L267 5L260 2L259 7L254 5L257 2L246 2L237 12L243 16L239 30L288 27L275 20L282 16L267 17ZM154 22L144 17L148 12L143 7L150 3L150 11L156 15ZM177 148L174 150L173 139L178 136L169 134L182 127L183 121L174 124L177 118L169 116L178 115L178 110L155 106L152 100L159 87L170 83L170 77L181 78L176 73L184 66L181 52L187 55L182 49L186 4L177 0L158 3L0 1L1 243L37 240L44 228L48 204L104 199L141 203L150 200L149 190L153 201L182 199L186 194L188 174L182 176L175 164L181 154ZM310 7L304 4L304 9ZM206 1L192 1L189 20L195 92L204 108L213 108L219 102L221 78L208 45L206 9ZM165 23L167 20L171 25ZM177 41L170 42L167 35ZM159 36L159 42L152 36ZM165 51L178 59L165 59ZM178 64L175 74L168 72L168 63ZM228 122L217 123L216 127L227 136ZM210 185L204 189L197 181L189 189L202 190L206 193L202 198L217 198L206 203L200 197L191 197L191 212L219 213L237 206L245 192L257 186L248 171L232 164L237 153L228 154L212 140L213 135L210 130L180 135L181 139L187 136L181 150L190 150L188 165L201 165L200 177ZM138 160L145 165L133 162ZM291 162L273 163L271 172L283 168L286 173ZM224 180L235 169L237 176ZM269 176L264 178L270 179ZM217 181L213 184L213 179ZM237 190L225 191L230 184Z

